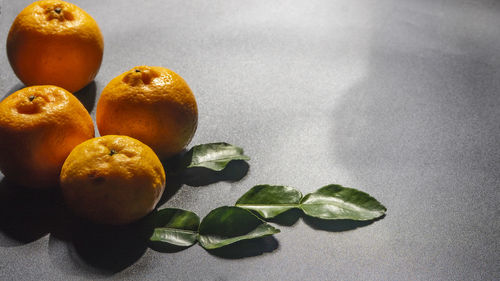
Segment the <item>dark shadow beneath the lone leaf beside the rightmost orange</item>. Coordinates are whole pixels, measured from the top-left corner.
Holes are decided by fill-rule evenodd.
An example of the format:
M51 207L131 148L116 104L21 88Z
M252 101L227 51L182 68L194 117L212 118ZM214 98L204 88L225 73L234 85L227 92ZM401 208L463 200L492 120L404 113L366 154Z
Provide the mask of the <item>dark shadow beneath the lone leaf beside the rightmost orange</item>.
M235 160L219 172L200 167L189 168L183 172L182 181L189 186L205 186L219 181L235 182L246 176L249 167L247 162Z

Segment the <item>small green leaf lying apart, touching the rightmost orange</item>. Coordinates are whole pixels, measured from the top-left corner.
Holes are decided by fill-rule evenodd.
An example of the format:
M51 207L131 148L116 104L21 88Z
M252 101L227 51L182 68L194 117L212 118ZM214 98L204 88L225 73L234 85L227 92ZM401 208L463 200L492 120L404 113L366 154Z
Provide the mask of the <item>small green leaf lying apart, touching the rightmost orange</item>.
M222 171L233 160L250 160L242 148L224 142L194 146L185 157L187 168L203 167L214 171Z

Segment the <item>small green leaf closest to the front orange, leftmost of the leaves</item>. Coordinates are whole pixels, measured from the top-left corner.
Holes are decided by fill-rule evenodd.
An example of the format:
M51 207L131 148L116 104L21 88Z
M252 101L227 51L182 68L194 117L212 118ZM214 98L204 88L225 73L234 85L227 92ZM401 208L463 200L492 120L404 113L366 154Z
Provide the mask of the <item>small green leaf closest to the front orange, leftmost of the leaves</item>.
M196 243L200 218L193 212L181 209L162 209L154 214L154 242L189 247Z

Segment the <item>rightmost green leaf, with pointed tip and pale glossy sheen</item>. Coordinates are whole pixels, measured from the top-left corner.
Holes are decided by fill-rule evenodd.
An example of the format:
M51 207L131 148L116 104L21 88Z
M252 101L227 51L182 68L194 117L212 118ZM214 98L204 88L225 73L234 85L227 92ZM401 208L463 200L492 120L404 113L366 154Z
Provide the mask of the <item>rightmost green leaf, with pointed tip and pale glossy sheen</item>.
M307 194L302 199L300 208L309 216L330 220L372 220L387 211L367 193L336 184Z

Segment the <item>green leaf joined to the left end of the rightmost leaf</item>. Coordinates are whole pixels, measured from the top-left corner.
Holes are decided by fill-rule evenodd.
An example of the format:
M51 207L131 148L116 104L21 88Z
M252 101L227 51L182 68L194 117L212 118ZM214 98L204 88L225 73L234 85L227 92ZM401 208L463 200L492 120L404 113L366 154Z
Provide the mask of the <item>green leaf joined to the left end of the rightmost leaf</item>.
M290 209L298 208L302 193L283 185L256 185L236 201L236 206L254 210L269 219Z

